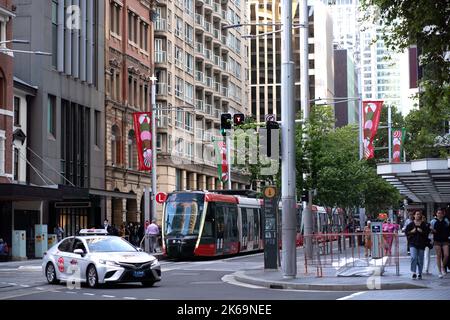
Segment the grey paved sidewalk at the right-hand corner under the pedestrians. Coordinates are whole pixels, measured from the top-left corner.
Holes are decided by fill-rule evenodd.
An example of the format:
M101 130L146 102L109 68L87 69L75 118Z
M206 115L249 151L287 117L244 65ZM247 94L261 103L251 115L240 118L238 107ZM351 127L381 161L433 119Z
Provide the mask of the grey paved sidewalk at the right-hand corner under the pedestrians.
M303 249L297 249L297 276L295 279L285 279L281 270L248 270L233 274L236 281L263 286L272 289L324 290L324 291L368 291L395 289L442 289L450 288L450 274L443 279L438 278L434 249L431 250L429 272L423 274L422 280L411 279L410 256L406 253L406 239L400 237L400 275L397 276L394 267L386 268L382 276L371 277L338 277L333 268L324 268L323 277L316 276L316 270L308 270L305 274Z

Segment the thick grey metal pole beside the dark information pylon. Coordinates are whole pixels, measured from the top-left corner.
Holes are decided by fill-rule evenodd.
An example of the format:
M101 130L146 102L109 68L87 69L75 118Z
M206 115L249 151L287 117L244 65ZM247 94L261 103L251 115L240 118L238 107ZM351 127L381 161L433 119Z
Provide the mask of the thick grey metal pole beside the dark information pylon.
M305 0L306 2L306 0ZM306 13L307 15L307 13ZM297 274L295 206L295 109L294 62L292 61L292 0L281 4L281 202L282 202L282 272L284 278Z

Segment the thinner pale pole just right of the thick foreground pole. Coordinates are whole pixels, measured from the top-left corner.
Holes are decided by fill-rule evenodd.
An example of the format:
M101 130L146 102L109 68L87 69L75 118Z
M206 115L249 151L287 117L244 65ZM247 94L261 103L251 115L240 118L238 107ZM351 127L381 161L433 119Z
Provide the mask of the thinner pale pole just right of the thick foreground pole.
M300 79L300 95L301 95L301 105L303 108L303 117L305 123L309 121L309 61L308 61L308 1L301 0L300 7L300 23L302 23L305 27L302 29L300 35L300 56L301 56L301 79ZM305 133L303 136L303 141L306 142L309 140L308 133ZM306 175L303 175L305 178ZM306 180L306 179L304 179ZM305 234L309 235L305 237L305 254L308 258L312 258L312 233L313 233L313 218L312 218L312 192L311 190L305 190L308 192L308 202L303 202L303 221L305 226Z

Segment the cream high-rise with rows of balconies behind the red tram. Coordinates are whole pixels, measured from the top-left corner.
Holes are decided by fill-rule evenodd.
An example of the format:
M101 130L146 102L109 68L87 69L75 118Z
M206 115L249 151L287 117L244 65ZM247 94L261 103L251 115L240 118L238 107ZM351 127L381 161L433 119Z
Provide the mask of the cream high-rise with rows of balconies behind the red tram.
M220 114L245 113L247 47L241 0L159 1L155 20L158 189L221 189L212 138ZM232 172L233 189L248 177Z

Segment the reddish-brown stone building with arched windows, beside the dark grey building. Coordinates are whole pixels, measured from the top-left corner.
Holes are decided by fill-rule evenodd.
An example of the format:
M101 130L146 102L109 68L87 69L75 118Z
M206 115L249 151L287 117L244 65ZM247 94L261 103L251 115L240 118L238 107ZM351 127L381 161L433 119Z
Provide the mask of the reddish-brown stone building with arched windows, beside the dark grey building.
M102 1L103 3L103 1ZM150 111L153 68L152 1L104 1L105 5L105 185L109 222L144 219L144 187L151 177L139 171L133 113Z

